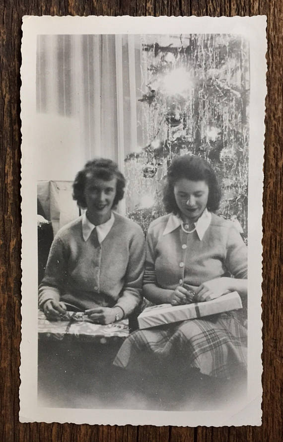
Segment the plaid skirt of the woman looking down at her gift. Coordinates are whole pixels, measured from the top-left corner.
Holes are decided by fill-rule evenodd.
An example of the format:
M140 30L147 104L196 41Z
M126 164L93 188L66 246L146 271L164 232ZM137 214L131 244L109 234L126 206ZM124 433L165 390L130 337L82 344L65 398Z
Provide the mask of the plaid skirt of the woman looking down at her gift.
M190 369L229 379L247 368L247 329L236 312L137 330L123 342L114 365L142 376Z

